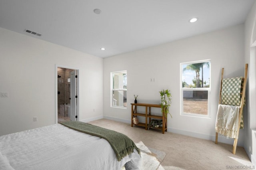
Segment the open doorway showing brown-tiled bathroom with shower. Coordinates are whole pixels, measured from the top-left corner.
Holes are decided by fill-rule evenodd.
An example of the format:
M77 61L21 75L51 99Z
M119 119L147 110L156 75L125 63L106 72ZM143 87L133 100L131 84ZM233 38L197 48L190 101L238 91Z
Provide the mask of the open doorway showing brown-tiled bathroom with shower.
M78 69L56 65L56 123L78 120Z

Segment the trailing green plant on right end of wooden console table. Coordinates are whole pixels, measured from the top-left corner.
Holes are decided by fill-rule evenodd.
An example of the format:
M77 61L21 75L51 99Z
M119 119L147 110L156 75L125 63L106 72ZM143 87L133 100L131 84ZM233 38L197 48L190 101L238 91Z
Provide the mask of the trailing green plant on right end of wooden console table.
M169 107L172 103L171 101L171 93L169 90L162 90L162 91L159 91L160 95L161 95L161 102L160 102L160 105L161 105L161 109L162 109L162 113L165 114L165 117L167 117L167 114L169 114L171 117L172 115L170 114L170 111L169 111Z

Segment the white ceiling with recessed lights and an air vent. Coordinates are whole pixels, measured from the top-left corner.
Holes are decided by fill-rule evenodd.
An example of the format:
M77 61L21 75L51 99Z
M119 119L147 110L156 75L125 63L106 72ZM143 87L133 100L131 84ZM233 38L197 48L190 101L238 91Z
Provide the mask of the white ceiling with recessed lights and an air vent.
M0 0L0 27L109 57L242 24L255 1Z

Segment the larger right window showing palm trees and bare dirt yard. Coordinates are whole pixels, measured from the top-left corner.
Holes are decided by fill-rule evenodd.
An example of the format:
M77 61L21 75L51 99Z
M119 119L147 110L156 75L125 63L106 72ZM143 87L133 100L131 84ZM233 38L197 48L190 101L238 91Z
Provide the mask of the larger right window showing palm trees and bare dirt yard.
M210 60L180 64L181 115L210 117Z

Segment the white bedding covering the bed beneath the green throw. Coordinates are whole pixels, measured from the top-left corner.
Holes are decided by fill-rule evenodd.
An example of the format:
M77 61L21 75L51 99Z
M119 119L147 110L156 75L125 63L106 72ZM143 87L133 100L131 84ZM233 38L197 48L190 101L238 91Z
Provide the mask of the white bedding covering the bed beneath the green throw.
M136 170L140 162L135 149L118 162L105 139L60 124L0 136L0 170Z

